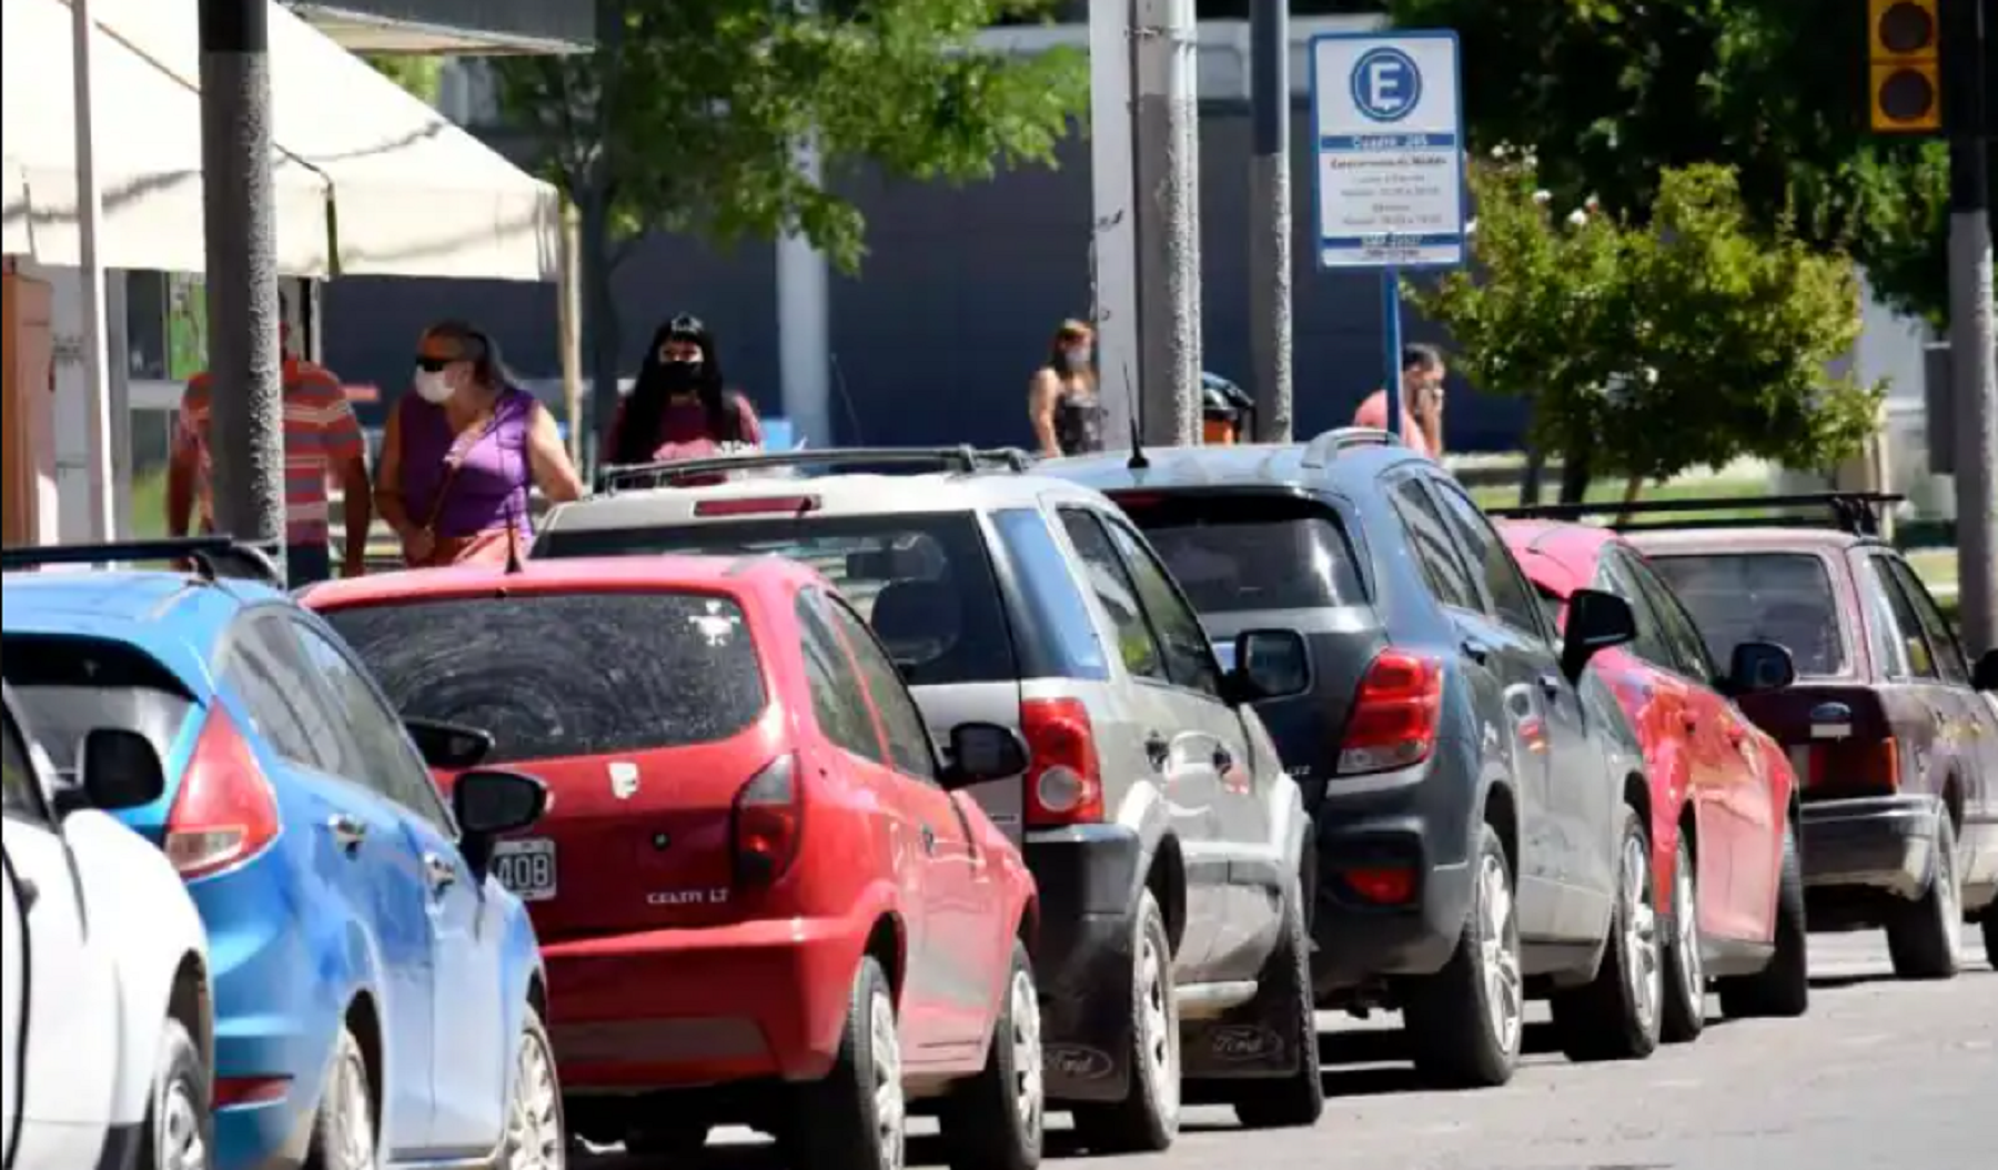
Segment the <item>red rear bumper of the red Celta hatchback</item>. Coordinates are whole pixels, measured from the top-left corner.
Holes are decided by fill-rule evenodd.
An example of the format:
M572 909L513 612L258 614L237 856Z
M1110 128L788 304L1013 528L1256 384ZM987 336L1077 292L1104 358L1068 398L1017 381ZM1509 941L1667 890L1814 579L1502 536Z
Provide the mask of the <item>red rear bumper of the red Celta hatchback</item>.
M649 930L541 948L565 1090L641 1092L833 1066L867 932L845 918Z

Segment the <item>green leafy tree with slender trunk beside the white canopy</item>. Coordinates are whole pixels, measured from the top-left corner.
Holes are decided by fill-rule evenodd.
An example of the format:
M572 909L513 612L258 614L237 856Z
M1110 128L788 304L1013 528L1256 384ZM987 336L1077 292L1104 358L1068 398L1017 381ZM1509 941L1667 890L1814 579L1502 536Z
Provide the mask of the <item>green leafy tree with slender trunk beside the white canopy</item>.
M853 272L865 226L827 182L841 170L971 182L1051 164L1089 98L1083 56L975 44L1045 4L597 0L595 52L498 62L507 118L579 212L593 383L615 385L609 278L645 232L733 244L797 228ZM807 138L823 180L801 166ZM601 433L615 395L593 399Z

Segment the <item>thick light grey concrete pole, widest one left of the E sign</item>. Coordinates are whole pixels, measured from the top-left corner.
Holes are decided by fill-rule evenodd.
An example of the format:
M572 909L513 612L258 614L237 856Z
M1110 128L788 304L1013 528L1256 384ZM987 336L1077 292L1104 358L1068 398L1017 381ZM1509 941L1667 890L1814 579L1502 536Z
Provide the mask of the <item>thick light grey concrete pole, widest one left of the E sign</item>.
M1177 447L1201 433L1195 18L1193 0L1133 4L1141 433Z

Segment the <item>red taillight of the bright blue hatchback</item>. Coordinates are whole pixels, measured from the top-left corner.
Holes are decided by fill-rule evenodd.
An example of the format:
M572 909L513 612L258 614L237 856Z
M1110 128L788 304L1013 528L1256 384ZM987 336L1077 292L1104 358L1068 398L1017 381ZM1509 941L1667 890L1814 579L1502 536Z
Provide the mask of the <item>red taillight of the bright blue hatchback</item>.
M184 880L242 865L278 839L278 797L250 743L216 707L166 815L166 859Z

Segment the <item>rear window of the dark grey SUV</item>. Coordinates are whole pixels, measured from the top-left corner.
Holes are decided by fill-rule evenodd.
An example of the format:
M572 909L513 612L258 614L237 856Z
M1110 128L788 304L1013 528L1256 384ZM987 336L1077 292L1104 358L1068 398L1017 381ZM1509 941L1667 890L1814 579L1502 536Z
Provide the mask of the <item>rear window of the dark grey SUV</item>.
M1201 613L1363 605L1339 517L1289 495L1113 493Z

